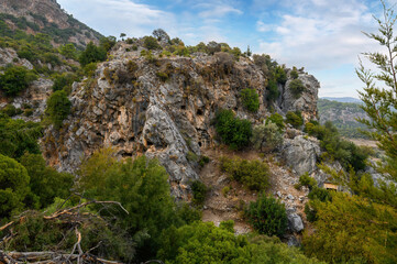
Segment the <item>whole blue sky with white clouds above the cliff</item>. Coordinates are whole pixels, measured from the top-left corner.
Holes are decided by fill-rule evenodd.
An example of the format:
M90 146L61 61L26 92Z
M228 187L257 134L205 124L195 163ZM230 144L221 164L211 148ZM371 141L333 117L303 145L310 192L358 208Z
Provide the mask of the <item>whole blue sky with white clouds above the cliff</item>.
M379 48L362 34L376 31L372 14L382 14L379 0L57 1L103 35L143 36L161 28L187 45L250 45L279 64L305 67L320 80L320 97L357 98L357 56Z

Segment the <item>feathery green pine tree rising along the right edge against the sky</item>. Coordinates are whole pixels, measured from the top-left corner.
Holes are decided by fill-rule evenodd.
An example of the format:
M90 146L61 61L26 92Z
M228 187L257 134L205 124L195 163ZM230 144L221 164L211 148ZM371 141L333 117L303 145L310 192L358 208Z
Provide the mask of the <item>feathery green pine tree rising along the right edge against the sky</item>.
M385 162L377 164L377 170L394 183L397 183L397 36L394 25L397 16L385 2L381 0L384 13L383 19L375 18L379 33L364 33L377 41L384 53L371 52L363 55L379 69L366 69L362 62L356 69L357 76L365 84L363 91L359 91L364 102L363 110L370 120L361 119L370 132L365 132L378 142L381 150L385 151ZM379 87L383 85L383 87Z

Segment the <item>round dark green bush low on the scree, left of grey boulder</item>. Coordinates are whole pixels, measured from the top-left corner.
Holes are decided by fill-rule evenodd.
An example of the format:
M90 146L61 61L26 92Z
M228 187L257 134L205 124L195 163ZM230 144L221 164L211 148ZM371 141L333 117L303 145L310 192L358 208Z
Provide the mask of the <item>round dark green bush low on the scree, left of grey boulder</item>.
M245 216L261 234L282 237L288 226L285 206L266 195L261 195L255 202L250 202Z

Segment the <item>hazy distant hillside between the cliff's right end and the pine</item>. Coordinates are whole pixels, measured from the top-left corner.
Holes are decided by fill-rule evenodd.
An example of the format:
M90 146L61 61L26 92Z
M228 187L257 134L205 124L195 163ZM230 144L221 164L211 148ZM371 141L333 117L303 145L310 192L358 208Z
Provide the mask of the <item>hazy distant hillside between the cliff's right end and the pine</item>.
M355 98L343 98L343 100L348 99L354 99L361 102ZM366 127L356 121L356 119L367 119L367 116L357 102L339 102L321 98L318 100L317 107L319 109L321 124L331 121L343 136L365 138L359 132L359 129L365 130Z

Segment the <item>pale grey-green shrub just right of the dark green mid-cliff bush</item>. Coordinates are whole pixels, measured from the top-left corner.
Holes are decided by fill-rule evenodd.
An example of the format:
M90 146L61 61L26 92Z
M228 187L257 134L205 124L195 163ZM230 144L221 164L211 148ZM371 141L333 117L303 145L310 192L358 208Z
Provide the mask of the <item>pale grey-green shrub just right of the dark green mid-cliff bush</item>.
M252 130L251 142L261 152L272 152L280 146L283 141L283 134L277 125L272 122L255 125Z

